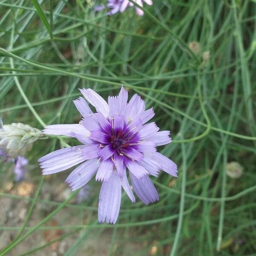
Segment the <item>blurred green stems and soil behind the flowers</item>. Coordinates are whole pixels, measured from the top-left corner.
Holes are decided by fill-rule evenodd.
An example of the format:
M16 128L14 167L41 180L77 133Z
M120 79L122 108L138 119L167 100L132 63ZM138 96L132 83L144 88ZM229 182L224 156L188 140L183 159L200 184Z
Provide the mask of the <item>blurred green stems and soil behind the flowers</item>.
M153 0L142 16L105 3L0 0L0 116L77 123L79 88L107 99L124 84L171 131L159 151L178 177L154 177L149 206L123 194L117 224L99 224L99 182L74 195L70 170L37 163L76 140L38 140L20 181L0 160L0 255L256 255L255 0Z

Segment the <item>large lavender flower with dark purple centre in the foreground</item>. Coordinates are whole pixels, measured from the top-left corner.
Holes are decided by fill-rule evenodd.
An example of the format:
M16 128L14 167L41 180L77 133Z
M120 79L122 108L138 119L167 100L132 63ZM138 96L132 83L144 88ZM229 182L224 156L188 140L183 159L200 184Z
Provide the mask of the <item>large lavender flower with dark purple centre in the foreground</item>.
M170 132L159 131L154 122L146 124L154 116L153 109L145 110L145 102L137 94L128 102L128 92L123 87L118 96L108 97L108 103L92 89L80 91L96 108L96 113L80 97L74 103L83 116L81 122L48 125L44 133L76 137L84 145L59 149L38 161L44 175L83 162L70 173L66 182L72 190L79 189L96 174L96 180L102 181L99 222L115 224L121 189L135 202L127 170L134 192L145 204L159 200L149 175L157 176L163 170L177 177L176 164L156 151L157 146L171 142Z

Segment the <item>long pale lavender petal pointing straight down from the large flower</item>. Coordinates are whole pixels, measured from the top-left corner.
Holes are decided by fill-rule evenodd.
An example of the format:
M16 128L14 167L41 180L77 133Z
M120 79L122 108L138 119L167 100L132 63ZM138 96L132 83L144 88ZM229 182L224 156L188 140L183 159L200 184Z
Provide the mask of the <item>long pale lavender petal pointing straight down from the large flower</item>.
M121 205L121 178L112 172L107 181L103 181L99 192L99 222L115 224Z

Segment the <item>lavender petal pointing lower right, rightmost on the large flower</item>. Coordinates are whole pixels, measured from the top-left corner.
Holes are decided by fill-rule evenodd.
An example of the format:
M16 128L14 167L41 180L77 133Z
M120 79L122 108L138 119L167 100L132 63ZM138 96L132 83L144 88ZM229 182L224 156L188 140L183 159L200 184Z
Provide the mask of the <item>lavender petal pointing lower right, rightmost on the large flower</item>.
M151 152L148 155L158 163L160 169L169 175L177 177L177 165L172 160L158 152Z

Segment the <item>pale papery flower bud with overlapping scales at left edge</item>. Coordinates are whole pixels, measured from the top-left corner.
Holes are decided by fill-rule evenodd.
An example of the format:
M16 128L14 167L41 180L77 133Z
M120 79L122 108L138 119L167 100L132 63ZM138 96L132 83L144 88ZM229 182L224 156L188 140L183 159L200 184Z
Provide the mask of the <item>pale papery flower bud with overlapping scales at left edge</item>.
M40 130L24 125L12 123L0 128L0 149L8 157L23 156L32 148L32 143L42 136Z

